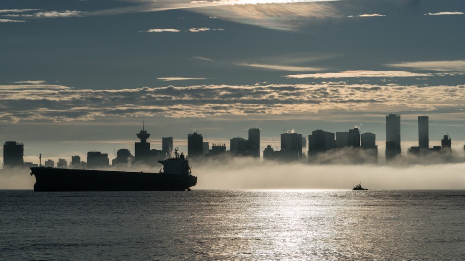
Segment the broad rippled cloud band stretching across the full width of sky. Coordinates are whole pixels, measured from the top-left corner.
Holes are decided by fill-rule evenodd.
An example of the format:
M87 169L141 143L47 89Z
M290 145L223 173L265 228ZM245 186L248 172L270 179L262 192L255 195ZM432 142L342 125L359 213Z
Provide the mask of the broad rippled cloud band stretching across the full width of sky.
M170 79L170 78L168 78ZM0 85L0 121L92 121L108 117L207 118L332 111L447 111L463 115L465 85L267 84L89 90ZM454 114L456 113L456 114ZM457 114L458 113L458 114ZM319 114L314 114L315 116Z

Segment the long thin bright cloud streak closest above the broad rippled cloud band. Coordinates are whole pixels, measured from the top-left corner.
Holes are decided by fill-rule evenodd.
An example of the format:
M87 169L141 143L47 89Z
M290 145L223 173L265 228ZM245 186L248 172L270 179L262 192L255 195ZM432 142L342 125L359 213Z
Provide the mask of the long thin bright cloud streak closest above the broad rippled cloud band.
M352 78L352 77L427 77L434 76L431 73L413 73L407 71L342 71L315 74L284 75L288 78Z

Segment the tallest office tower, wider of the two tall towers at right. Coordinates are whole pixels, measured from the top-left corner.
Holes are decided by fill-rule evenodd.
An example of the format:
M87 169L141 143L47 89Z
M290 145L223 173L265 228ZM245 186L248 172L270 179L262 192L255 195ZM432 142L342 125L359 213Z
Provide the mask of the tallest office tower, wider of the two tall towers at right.
M386 115L386 161L401 155L401 115Z

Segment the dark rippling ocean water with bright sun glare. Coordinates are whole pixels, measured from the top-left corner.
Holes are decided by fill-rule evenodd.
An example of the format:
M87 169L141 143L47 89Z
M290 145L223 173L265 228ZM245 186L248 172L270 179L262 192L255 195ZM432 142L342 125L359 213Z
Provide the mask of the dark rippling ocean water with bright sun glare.
M0 260L465 260L465 191L0 191Z

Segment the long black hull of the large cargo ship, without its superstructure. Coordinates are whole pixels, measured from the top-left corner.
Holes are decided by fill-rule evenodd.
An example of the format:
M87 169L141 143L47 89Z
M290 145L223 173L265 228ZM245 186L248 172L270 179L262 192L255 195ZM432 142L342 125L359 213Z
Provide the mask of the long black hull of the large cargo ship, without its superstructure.
M197 177L164 173L32 167L34 191L183 191Z

